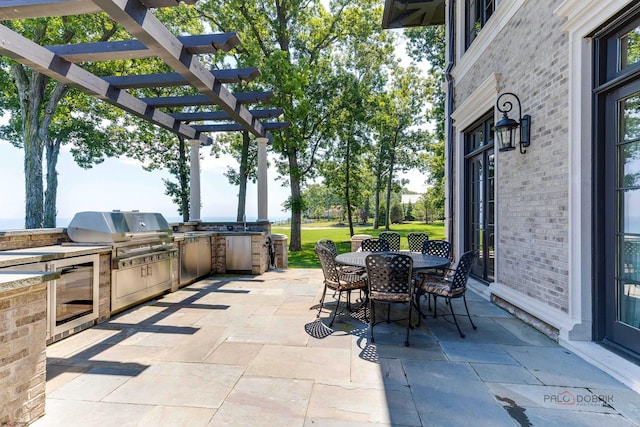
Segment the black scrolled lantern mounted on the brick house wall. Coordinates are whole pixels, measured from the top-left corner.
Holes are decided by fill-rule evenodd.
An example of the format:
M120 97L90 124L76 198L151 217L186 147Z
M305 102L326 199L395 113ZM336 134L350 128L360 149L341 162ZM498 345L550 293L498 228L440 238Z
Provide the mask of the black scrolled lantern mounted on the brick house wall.
M500 104L500 100L503 96L510 96L518 103L518 117L520 121L515 121L507 115L513 109L513 103L509 100L503 101ZM518 128L520 128L520 153L527 152L526 148L531 143L531 116L528 114L522 115L522 107L520 105L520 99L511 92L505 92L498 97L496 101L496 107L498 111L502 113L502 119L495 124L496 136L498 138L498 146L500 151L515 150L515 141L518 135Z

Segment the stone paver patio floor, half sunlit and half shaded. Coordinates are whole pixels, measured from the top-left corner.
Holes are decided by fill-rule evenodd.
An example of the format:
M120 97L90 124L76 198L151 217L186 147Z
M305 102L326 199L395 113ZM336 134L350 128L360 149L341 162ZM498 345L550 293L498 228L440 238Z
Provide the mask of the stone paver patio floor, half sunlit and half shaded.
M429 316L407 348L402 321L369 344L361 312L316 320L321 290L320 269L214 276L55 343L32 425L640 425L640 395L473 292L477 330Z

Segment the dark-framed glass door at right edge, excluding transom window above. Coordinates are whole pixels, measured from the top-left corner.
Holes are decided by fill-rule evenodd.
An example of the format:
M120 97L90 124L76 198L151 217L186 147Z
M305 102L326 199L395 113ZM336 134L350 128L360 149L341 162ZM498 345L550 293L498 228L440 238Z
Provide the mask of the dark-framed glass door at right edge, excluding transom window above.
M606 339L640 352L640 81L607 97Z

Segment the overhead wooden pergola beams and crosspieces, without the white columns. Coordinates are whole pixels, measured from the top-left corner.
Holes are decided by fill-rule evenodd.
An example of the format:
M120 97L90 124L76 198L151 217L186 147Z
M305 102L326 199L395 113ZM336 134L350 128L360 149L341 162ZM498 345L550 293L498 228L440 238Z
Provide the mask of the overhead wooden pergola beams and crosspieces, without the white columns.
M187 0L193 4L195 0ZM218 49L231 49L240 40L235 33L210 34L204 36L176 37L149 10L153 7L178 5L180 0L2 0L0 20L31 17L67 16L105 12L125 28L132 40L105 43L43 47L20 34L2 26L0 28L0 54L13 58L32 69L55 80L78 88L92 96L109 102L131 114L171 130L188 139L206 143L193 127L160 111L157 107L178 105L215 105L229 120L257 137L269 137L267 130L257 117L243 105L264 102L273 97L271 92L249 92L233 94L223 82L254 78L255 69L210 71L195 56ZM75 62L113 60L119 58L156 57L175 73L101 78ZM153 86L152 86L153 85ZM188 103L178 98L173 103L163 104L162 99L139 99L128 93L127 87L191 86L200 95L194 95Z

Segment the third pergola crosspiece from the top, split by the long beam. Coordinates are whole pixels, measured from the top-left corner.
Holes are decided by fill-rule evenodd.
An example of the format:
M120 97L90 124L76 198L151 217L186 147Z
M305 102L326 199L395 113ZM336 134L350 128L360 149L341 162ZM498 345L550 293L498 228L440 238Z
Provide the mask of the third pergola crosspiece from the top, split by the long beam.
M212 70L213 77L221 83L250 82L260 76L257 68ZM178 73L141 74L137 76L109 76L106 81L120 89L142 89L151 87L188 86L189 82Z

